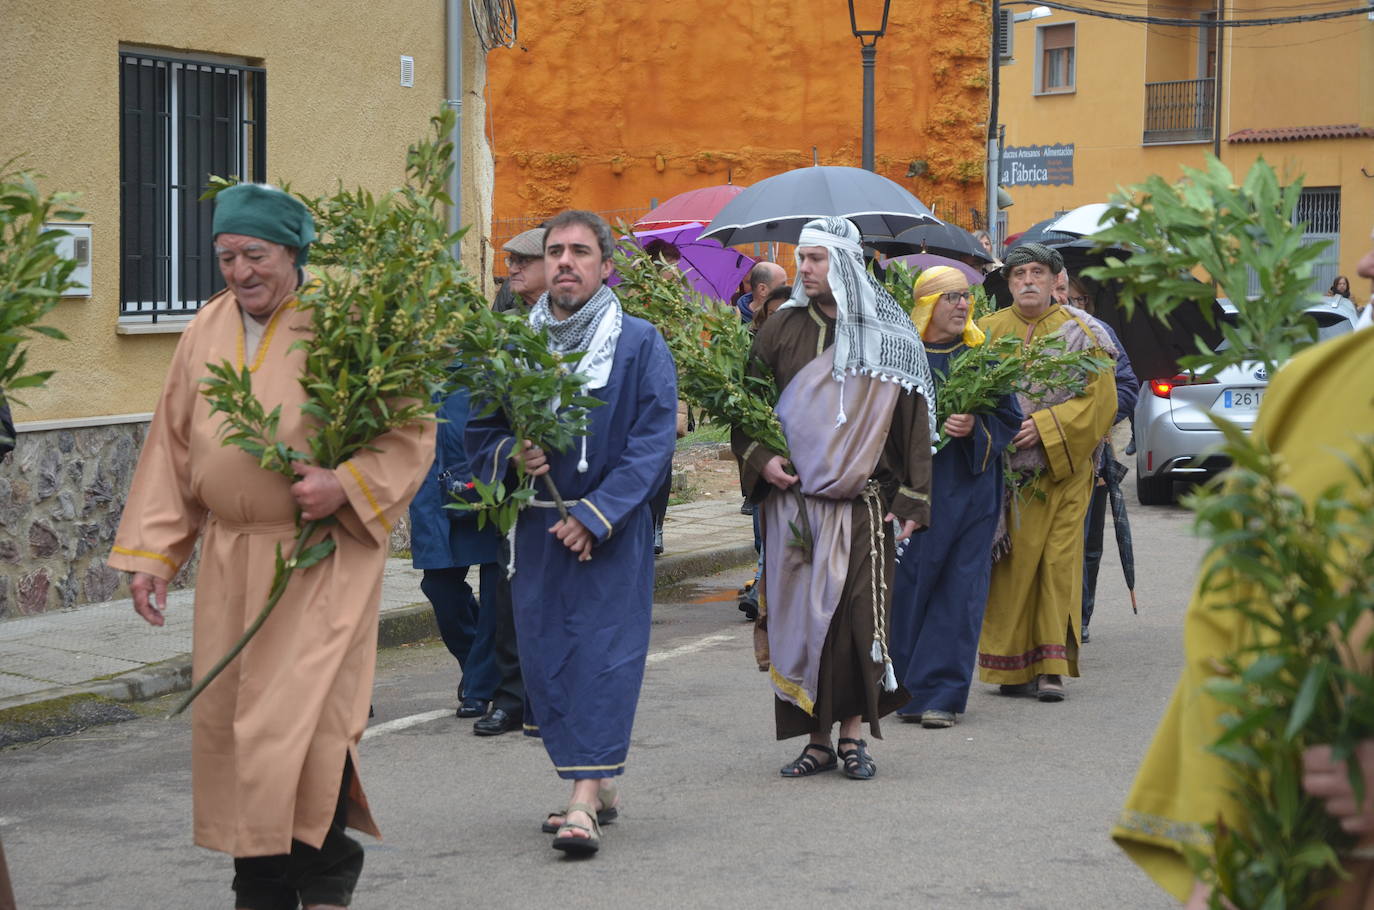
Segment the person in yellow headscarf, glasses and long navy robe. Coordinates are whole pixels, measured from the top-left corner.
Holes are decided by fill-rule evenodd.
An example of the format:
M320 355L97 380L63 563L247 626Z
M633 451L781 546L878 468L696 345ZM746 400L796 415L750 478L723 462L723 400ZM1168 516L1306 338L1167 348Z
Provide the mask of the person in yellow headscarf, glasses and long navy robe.
M912 289L911 320L926 345L936 399L951 362L984 342L971 319L969 279L937 265ZM897 561L889 650L911 701L897 716L923 727L949 727L963 713L978 656L982 608L992 570L992 536L1002 506L1002 452L1021 428L1015 396L982 414L952 414L936 454L930 529L911 537Z

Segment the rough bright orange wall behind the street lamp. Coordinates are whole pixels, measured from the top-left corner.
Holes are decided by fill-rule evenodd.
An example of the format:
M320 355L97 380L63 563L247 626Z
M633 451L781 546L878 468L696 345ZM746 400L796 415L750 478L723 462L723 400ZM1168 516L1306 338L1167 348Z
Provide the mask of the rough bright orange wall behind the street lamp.
M899 1L878 43L877 170L926 205L981 199L989 15ZM859 165L861 92L844 3L525 4L519 47L488 55L493 217L647 209L809 165L812 146Z

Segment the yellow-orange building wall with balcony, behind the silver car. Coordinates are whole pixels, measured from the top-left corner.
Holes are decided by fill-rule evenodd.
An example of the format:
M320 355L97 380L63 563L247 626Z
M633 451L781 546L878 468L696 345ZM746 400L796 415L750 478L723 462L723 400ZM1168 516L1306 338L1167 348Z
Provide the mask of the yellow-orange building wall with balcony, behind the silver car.
M1242 7L1239 15L1260 15ZM1175 7L1176 8L1176 7ZM1228 4L1228 15L1238 15ZM1253 10L1252 10L1253 8ZM1158 11L1154 11L1158 12ZM1172 15L1158 12L1160 15ZM1035 27L1077 25L1073 93L1033 93ZM1145 82L1197 77L1197 38L1165 38L1178 29L1054 12L1015 26L1015 62L1002 67L1000 120L1006 144L1074 144L1073 183L1009 187L1009 234L1058 210L1105 202L1118 187L1150 175L1176 180L1183 166L1201 168L1212 142L1142 146ZM1156 54L1156 48L1164 51ZM1149 52L1147 52L1149 48ZM1161 63L1164 60L1164 63ZM1172 69L1167 69L1168 67ZM1182 69L1180 69L1182 67ZM1374 139L1228 143L1239 129L1360 124L1374 126L1374 22L1349 16L1329 22L1227 32L1223 49L1226 100L1221 161L1243 175L1264 157L1281 175L1308 187L1341 187L1341 274L1353 276L1374 224Z

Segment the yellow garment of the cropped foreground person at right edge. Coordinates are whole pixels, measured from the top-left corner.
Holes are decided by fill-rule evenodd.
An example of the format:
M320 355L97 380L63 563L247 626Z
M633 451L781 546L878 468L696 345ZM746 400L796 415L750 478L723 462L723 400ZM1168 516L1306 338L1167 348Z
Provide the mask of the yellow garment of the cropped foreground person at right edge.
M1274 378L1254 423L1257 439L1283 455L1287 484L1311 499L1351 473L1356 436L1374 433L1374 330L1318 345ZM1215 660L1248 634L1241 614L1194 591L1183 625L1186 661L1112 837L1179 900L1193 888L1183 845L1208 845L1202 825L1219 815L1237 823L1226 763L1206 751L1221 729L1220 704L1202 691Z

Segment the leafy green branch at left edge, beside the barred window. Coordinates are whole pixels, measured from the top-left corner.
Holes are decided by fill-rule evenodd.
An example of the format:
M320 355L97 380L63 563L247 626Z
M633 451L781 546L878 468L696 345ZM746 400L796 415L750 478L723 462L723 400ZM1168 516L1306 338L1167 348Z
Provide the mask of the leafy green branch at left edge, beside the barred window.
M66 340L52 326L38 324L58 305L62 291L74 286L73 260L58 254L66 231L49 228L54 220L76 221L82 212L70 192L44 195L34 175L15 170L15 161L0 165L0 390L40 388L52 370L25 373L33 335Z

